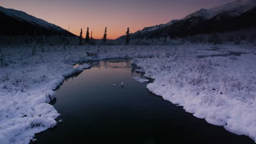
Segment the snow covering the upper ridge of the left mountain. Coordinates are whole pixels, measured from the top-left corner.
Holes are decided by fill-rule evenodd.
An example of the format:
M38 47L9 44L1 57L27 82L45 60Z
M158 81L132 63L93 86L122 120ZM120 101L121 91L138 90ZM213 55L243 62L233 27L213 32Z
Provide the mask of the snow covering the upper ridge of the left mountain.
M59 26L56 26L56 25L51 24L49 22L46 22L42 19L38 19L37 17L34 17L32 15L28 15L28 14L24 13L23 11L14 10L14 9L5 9L5 8L0 6L0 12L6 14L8 16L15 17L18 20L24 20L24 21L30 22L33 25L36 24L36 25L46 27L46 28L50 28L50 29L57 29L59 31L64 30L63 28L61 28Z

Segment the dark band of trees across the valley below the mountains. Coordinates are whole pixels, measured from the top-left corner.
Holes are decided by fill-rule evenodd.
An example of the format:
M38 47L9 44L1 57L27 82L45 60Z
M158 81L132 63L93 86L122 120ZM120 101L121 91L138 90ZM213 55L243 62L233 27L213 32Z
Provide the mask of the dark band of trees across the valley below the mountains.
M240 31L231 31L225 33L218 33L213 31L209 34L188 35L182 38L172 38L170 35L166 37L148 38L147 34L138 31L130 34L129 27L125 35L115 40L107 38L107 27L104 29L104 34L101 39L95 39L92 31L87 28L85 37L83 38L83 29L81 28L79 37L71 37L68 35L0 35L1 45L50 45L50 46L66 46L70 45L181 45L184 43L203 43L203 44L223 44L233 43L239 44L253 44L256 46L256 28L242 29Z

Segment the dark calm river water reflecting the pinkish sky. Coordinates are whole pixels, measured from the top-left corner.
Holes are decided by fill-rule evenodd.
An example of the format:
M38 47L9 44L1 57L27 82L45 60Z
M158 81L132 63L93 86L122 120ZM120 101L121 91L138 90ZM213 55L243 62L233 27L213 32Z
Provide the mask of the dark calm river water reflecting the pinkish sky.
M69 77L52 102L62 123L31 143L254 143L150 93L135 69L112 59Z

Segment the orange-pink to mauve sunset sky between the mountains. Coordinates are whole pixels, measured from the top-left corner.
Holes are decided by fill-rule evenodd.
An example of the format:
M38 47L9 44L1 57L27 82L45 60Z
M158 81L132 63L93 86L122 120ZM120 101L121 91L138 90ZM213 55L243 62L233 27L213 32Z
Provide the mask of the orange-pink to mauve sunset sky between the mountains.
M0 0L0 5L24 11L54 23L79 35L83 28L93 31L94 38L102 38L104 27L108 39L148 26L159 25L193 13L201 8L212 8L234 0Z

